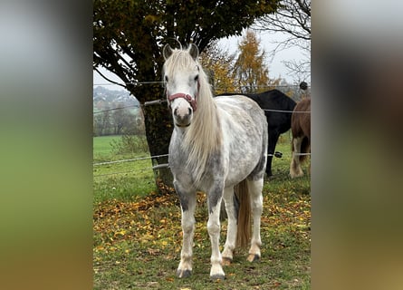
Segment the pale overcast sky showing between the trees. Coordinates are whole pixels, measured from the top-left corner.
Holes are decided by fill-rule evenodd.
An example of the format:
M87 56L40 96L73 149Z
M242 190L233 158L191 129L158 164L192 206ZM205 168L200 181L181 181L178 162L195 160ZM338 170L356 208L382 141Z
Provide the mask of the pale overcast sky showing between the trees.
M305 60L307 57L302 53L302 50L299 47L293 47L281 52L277 52L273 58L269 57L269 55L273 52L276 47L276 42L282 41L285 37L284 34L258 34L258 37L261 40L261 48L264 49L267 59L267 65L269 67L269 77L271 79L282 78L285 81L293 84L296 82L293 75L289 75L287 68L282 63L283 61L300 61ZM228 50L229 53L235 53L238 50L238 43L242 40L242 36L232 36L229 38L223 38L219 45L222 46L225 50ZM121 82L120 78L118 78L113 73L109 73L107 70L101 68L102 73L104 73L111 80L116 82ZM311 80L307 80L307 82L311 82ZM122 90L123 88L118 85L110 85L106 80L104 80L101 75L97 72L93 72L93 84L94 86L104 85L110 90Z

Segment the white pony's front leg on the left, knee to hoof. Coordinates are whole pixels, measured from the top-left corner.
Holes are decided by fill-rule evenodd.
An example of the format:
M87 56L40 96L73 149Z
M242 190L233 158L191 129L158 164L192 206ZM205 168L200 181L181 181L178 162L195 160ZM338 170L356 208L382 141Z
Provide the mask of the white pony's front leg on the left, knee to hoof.
M179 278L183 278L192 274L193 236L196 223L196 192L187 193L184 190L178 190L178 185L175 186L175 189L180 199L183 231L183 244L177 275Z

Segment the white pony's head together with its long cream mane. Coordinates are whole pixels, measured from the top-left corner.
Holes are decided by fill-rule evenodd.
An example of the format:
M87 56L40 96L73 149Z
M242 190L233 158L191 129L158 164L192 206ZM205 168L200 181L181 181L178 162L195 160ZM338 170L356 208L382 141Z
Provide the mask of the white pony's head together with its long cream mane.
M187 49L175 50L167 44L163 55L168 104L176 128L185 132L180 134L180 150L189 152L186 166L189 172L194 173L197 184L205 172L207 161L221 146L216 102L206 73L197 62L195 44L190 44Z

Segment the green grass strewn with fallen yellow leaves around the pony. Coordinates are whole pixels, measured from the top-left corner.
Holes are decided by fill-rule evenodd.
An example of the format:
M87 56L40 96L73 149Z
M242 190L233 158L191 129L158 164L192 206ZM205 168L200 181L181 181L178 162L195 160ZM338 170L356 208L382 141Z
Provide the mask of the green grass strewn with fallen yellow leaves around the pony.
M94 138L94 163L144 155L116 156L108 142ZM157 193L149 160L94 166L94 289L310 289L310 176L290 179L288 133L276 150L283 158L273 160L273 177L264 182L262 260L247 262L247 248L240 248L225 280L213 282L204 193L197 194L193 273L178 279L182 234L173 189ZM225 229L223 222L221 245Z

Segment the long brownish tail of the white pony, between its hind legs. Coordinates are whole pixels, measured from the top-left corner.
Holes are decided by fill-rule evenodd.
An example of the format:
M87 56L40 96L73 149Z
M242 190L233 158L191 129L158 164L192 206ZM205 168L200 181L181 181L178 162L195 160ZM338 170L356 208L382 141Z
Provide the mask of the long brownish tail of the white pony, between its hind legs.
M238 183L234 190L239 202L236 246L245 247L251 237L251 202L246 179Z

